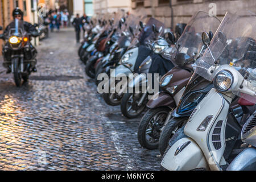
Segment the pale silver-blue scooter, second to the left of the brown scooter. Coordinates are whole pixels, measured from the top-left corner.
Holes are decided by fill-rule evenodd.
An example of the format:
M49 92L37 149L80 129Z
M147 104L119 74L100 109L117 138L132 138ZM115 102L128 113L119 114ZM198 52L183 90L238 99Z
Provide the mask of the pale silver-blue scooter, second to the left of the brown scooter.
M125 92L126 87L124 86L121 90L121 92L111 92L111 90L115 90L115 86L118 84L120 80L122 80L123 76L127 77L127 80L129 80L128 76L129 73L137 73L139 69L139 65L141 65L142 61L151 53L150 48L148 48L148 45L151 44L151 40L155 40L158 35L161 35L164 31L164 28L158 29L160 32L158 34L155 34L155 32L152 31L152 25L154 24L155 27L164 27L164 24L162 22L159 22L158 20L154 18L150 18L147 21L146 26L140 23L141 28L143 30L140 32L140 34L133 40L130 47L128 48L128 51L122 56L121 60L119 60L118 66L110 73L110 78L115 80L113 84L109 80L109 93L102 94L102 97L104 98L104 101L108 105L119 105L123 96L123 92ZM149 43L149 44L146 44Z

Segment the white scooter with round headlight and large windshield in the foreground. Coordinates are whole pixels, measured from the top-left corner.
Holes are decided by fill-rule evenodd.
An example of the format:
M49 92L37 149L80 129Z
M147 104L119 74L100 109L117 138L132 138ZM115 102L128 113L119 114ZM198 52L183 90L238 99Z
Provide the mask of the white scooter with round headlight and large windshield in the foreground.
M197 74L214 82L214 88L193 110L184 127L185 137L167 148L163 168L218 171L229 166L226 152L230 153L241 140L240 123L228 117L230 103L236 95L243 105L256 103L255 17L245 11L226 13L211 44L209 35L203 32L208 50L194 66Z

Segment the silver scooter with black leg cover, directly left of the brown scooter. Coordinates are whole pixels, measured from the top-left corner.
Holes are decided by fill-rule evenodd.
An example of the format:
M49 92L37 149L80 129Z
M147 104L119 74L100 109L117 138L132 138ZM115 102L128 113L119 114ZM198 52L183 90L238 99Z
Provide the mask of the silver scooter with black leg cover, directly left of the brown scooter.
M161 27L160 27L161 28ZM159 32L155 30L154 32ZM160 36L158 37L158 39ZM148 96L154 93L149 93L147 88L154 89L155 74L157 73L162 77L167 71L174 68L174 64L168 59L165 59L164 52L168 49L169 45L166 40L160 38L150 45L152 52L149 56L144 59L142 64L139 66L139 75L134 77L128 84L129 90L135 90L134 93L125 93L121 100L121 112L127 118L136 118L142 113L146 107ZM152 74L152 82L148 82L147 74ZM152 85L151 85L152 84ZM144 89L142 90L142 86ZM136 91L137 90L137 91Z

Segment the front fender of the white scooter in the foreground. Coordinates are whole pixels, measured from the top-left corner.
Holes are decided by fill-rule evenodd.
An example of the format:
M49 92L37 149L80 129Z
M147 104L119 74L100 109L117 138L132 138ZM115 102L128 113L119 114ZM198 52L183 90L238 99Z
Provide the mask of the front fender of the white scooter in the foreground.
M181 138L167 151L161 166L170 171L209 169L203 151L191 138Z

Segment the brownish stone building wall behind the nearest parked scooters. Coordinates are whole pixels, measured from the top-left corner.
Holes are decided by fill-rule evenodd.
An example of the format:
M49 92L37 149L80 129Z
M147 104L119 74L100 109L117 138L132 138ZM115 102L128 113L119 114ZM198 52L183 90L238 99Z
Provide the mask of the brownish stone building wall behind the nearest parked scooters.
M176 23L188 23L199 10L212 13L216 7L216 15L222 19L226 13L237 10L251 10L255 13L255 0L131 0L131 13L152 16L174 27Z

